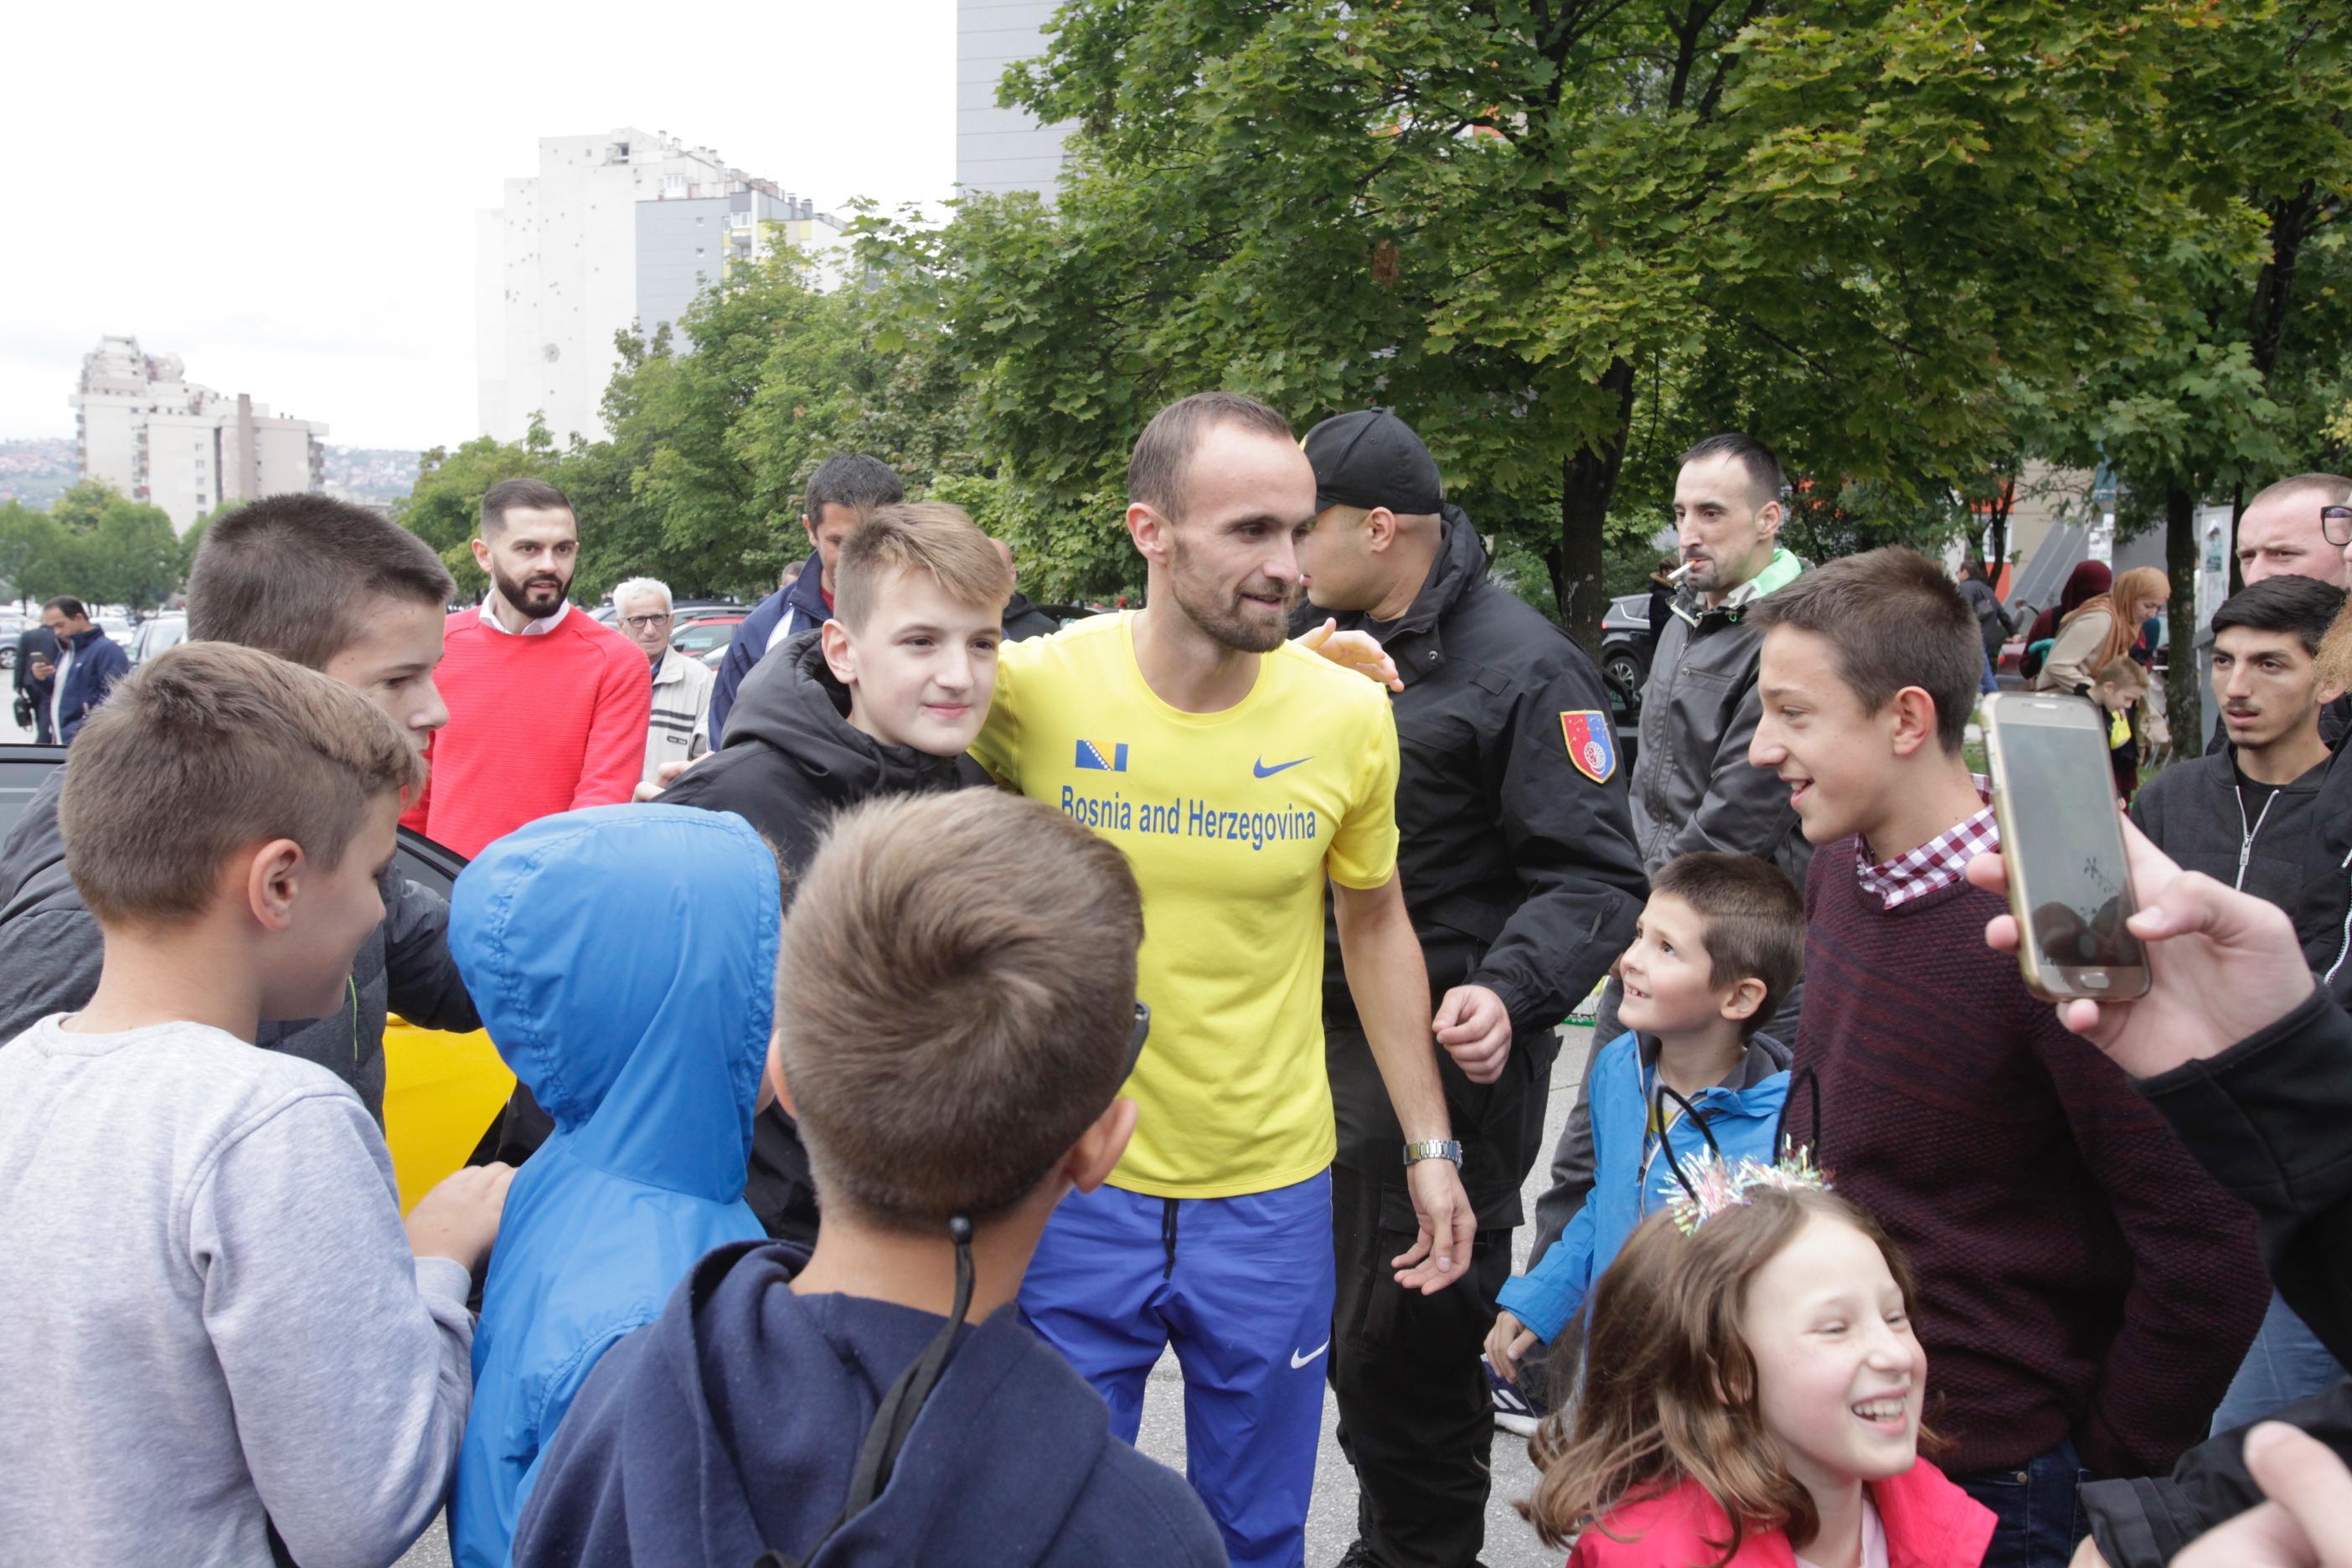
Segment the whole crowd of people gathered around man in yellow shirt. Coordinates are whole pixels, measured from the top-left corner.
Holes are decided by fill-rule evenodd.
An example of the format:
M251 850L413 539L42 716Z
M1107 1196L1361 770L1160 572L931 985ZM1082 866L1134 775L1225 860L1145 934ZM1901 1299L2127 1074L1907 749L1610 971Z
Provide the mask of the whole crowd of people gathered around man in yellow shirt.
M1329 1389L1352 1566L1477 1561L1498 1410L1595 1568L2352 1563L2352 482L2246 508L2152 992L2058 1011L2006 611L1783 494L1684 454L1630 769L1388 409L1162 409L1143 609L1061 630L837 456L715 677L536 480L454 616L372 512L216 520L0 844L5 1554L1294 1566ZM2037 689L2138 733L2161 592L2070 595ZM517 1079L405 1215L388 1013Z

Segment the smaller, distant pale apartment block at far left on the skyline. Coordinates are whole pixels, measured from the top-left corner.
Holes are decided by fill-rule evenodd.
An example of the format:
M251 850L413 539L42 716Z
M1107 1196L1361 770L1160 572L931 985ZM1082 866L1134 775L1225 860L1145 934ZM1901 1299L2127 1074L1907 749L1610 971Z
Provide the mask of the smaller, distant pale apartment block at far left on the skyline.
M139 339L99 339L66 402L82 477L160 505L176 534L221 501L322 489L327 425L188 381L179 355Z

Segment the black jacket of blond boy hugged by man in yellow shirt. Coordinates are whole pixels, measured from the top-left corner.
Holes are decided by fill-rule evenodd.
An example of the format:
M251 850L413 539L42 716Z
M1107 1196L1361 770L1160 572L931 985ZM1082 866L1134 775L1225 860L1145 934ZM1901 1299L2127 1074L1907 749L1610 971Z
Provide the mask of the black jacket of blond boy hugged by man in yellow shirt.
M760 661L736 693L727 745L687 769L663 804L734 811L769 842L793 886L842 806L875 795L960 790L988 783L976 762L884 745L849 726L849 689L826 668L821 632L797 632ZM793 1006L790 997L781 999ZM743 1201L771 1237L816 1239L816 1185L790 1112L769 1105L753 1124Z

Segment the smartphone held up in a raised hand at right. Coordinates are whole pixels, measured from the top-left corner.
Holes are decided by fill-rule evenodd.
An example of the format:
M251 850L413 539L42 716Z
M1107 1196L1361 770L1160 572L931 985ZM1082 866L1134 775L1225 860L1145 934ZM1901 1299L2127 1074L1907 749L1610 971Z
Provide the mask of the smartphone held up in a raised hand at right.
M2002 691L1978 708L2009 863L2025 990L2046 1001L2147 994L2147 952L2107 759L2107 712L2079 696Z

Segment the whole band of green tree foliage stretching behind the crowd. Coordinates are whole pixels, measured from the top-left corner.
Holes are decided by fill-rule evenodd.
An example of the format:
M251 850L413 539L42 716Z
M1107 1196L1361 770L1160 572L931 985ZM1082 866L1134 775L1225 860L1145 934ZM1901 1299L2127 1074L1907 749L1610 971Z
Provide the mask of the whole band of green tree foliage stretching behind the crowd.
M2347 28L2317 0L1068 0L1004 82L1075 127L1056 202L866 214L830 292L793 254L741 270L675 339L621 334L607 440L435 449L402 517L480 590L482 491L541 475L583 595L753 595L856 449L1011 541L1035 597L1110 597L1136 433L1223 386L1301 425L1399 409L1583 635L1724 428L1780 449L1816 559L2006 552L2027 458L2194 501L2352 428Z

